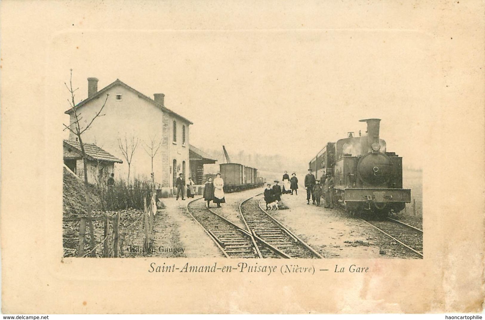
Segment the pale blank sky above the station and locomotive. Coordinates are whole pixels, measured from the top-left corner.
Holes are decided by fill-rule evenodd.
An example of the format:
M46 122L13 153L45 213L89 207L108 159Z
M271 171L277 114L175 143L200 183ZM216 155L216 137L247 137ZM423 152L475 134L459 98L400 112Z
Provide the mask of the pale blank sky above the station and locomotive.
M413 30L79 30L51 39L48 75L61 113L69 69L78 101L87 77L98 89L119 78L152 98L164 93L166 107L194 122L199 148L298 164L379 118L388 151L420 168L422 112L442 85L430 41Z

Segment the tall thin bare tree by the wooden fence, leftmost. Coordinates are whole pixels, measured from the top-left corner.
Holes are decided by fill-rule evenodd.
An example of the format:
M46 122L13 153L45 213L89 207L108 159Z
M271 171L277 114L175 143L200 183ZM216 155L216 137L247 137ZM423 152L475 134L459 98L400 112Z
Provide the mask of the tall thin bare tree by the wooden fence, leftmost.
M91 200L89 198L87 156L86 156L86 152L84 151L84 143L82 142L81 136L84 132L86 132L86 130L88 130L90 128L91 124L93 124L93 121L96 118L104 116L104 114L101 114L101 111L103 111L103 108L106 105L106 101L108 101L109 94L106 94L106 99L104 100L103 105L99 108L99 111L93 116L93 118L91 120L85 121L84 123L86 123L86 124L83 125L83 123L81 123L81 120L82 120L81 113L78 114L78 112L77 112L76 103L75 103L75 96L76 95L74 94L74 92L76 92L79 88L76 88L76 89L72 88L72 69L70 69L70 72L71 72L71 76L69 78L69 86L67 86L67 83L64 83L64 84L65 84L65 87L67 88L67 90L69 91L69 93L71 94L70 100L67 99L67 101L69 102L69 105L71 106L71 108L73 110L74 120L73 121L70 120L71 123L69 123L69 125L65 125L64 123L63 123L63 125L65 127L64 130L69 130L74 135L76 135L76 137L78 138L79 144L81 146L81 156L82 156L82 163L83 163L83 168L84 168L84 189L85 189L85 194L86 194L86 196L85 196L86 212L88 214L88 221L89 221L89 237L91 238L91 248L94 249L95 246L96 246L96 240L94 238L93 221L91 220ZM70 119L72 119L72 117ZM96 256L96 250L93 250L91 252L91 256L92 257Z

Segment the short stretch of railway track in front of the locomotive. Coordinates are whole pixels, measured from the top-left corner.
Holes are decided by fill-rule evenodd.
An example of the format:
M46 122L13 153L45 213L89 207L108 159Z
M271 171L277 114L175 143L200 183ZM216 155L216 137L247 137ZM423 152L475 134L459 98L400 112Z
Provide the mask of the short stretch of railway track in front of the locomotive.
M397 243L403 245L414 254L423 256L423 231L404 222L388 218L387 221L368 221L365 223L387 235ZM398 239L399 238L399 239Z

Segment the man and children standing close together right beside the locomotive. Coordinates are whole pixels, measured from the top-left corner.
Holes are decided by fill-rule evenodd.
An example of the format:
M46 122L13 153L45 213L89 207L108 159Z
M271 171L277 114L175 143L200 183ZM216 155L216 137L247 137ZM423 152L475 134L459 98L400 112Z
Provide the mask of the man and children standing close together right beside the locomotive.
M321 180L315 180L315 176L308 169L308 174L305 176L305 187L307 188L307 204L311 201L314 205L320 207L320 200L322 196L325 198L325 208L333 209L334 203L334 180L329 173L323 176Z

